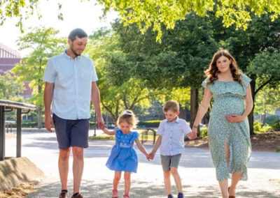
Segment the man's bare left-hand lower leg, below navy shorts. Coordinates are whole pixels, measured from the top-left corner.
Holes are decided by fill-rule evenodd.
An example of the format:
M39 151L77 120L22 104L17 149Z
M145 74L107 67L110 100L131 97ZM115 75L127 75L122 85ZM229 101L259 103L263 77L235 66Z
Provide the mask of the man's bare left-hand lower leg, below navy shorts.
M67 190L70 152L71 152L71 148L59 149L58 170L59 170L60 182L62 184L62 190Z

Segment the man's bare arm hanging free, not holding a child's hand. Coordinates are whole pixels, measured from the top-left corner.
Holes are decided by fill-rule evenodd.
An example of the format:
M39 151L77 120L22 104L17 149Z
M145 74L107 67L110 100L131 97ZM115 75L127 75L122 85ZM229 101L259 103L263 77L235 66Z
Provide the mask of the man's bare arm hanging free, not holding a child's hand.
M50 116L50 105L52 104L53 89L55 88L54 83L45 82L44 90L44 105L45 105L45 128L52 132L54 127L52 117Z

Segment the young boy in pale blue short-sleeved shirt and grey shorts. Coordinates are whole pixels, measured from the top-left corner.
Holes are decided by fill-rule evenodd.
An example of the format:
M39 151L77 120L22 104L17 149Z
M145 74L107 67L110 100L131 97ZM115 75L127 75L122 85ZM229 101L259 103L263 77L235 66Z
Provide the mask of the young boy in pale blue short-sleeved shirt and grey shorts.
M184 136L195 139L196 133L191 132L188 123L179 119L179 103L170 100L165 103L163 107L165 112L165 120L161 121L158 127L157 134L159 135L153 151L149 154L149 158L153 159L155 152L160 147L160 158L162 162L162 169L165 177L165 190L168 198L172 198L170 174L172 174L178 190L178 198L184 198L181 178L178 173L178 166L181 158L181 153L185 146Z

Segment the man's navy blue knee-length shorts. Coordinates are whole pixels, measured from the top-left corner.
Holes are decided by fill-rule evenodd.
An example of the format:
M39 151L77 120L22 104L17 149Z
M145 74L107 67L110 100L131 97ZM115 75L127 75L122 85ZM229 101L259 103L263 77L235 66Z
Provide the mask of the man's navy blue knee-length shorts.
M88 147L90 119L67 120L52 114L52 120L60 149L67 149L70 146Z

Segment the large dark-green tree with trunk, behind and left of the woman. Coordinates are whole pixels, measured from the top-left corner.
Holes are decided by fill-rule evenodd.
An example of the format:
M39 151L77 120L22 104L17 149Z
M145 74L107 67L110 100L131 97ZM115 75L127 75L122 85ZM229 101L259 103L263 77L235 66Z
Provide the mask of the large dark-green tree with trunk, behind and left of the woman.
M203 71L218 48L209 18L187 15L186 20L176 22L174 29L162 31L162 43L153 39L151 29L140 35L134 24L123 27L116 22L113 29L120 35L120 48L132 62L127 75L136 75L153 88L191 88L188 96L193 125L199 106L198 89L205 78Z

